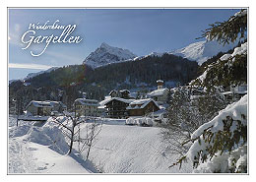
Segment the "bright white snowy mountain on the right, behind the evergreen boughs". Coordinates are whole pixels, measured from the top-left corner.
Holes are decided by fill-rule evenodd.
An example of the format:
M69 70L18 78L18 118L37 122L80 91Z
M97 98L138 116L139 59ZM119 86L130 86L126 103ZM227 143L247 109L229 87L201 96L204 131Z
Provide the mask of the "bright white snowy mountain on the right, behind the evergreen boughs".
M198 41L191 43L186 47L168 52L178 55L192 61L197 61L202 65L209 58L217 55L219 52L226 52L237 45L237 42L222 45L217 41Z

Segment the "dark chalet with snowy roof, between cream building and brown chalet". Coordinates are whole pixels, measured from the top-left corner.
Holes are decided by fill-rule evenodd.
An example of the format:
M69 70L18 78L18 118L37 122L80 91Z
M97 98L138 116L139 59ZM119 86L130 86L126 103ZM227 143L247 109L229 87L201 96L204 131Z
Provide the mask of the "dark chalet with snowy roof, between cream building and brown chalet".
M120 97L111 97L103 100L100 104L105 105L106 116L110 118L127 118L128 110L126 107L135 99L125 99Z

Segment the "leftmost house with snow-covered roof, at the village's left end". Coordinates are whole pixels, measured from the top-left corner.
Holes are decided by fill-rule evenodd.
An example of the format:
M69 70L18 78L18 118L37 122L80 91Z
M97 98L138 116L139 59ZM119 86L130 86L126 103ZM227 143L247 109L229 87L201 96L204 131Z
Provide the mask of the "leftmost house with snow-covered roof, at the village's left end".
M50 116L52 112L62 113L67 110L67 106L61 101L35 101L32 100L26 107L27 113L33 116Z

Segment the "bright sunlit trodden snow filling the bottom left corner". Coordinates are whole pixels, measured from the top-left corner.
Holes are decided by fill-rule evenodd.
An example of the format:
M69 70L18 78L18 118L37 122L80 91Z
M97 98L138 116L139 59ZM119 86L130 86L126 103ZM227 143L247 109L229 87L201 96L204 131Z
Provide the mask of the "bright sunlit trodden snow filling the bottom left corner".
M9 140L9 173L89 173L69 155L62 155L47 146L26 142L22 138Z

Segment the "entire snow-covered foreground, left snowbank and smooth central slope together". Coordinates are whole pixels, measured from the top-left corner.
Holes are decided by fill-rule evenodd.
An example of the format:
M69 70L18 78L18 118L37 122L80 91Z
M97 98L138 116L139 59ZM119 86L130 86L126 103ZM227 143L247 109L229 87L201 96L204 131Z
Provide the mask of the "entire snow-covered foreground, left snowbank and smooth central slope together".
M9 121L9 173L190 173L184 163L168 168L177 155L164 151L160 128L124 125L125 120L105 120L96 143L86 152L67 155L68 145L59 128L51 122ZM81 135L88 124L81 126Z

